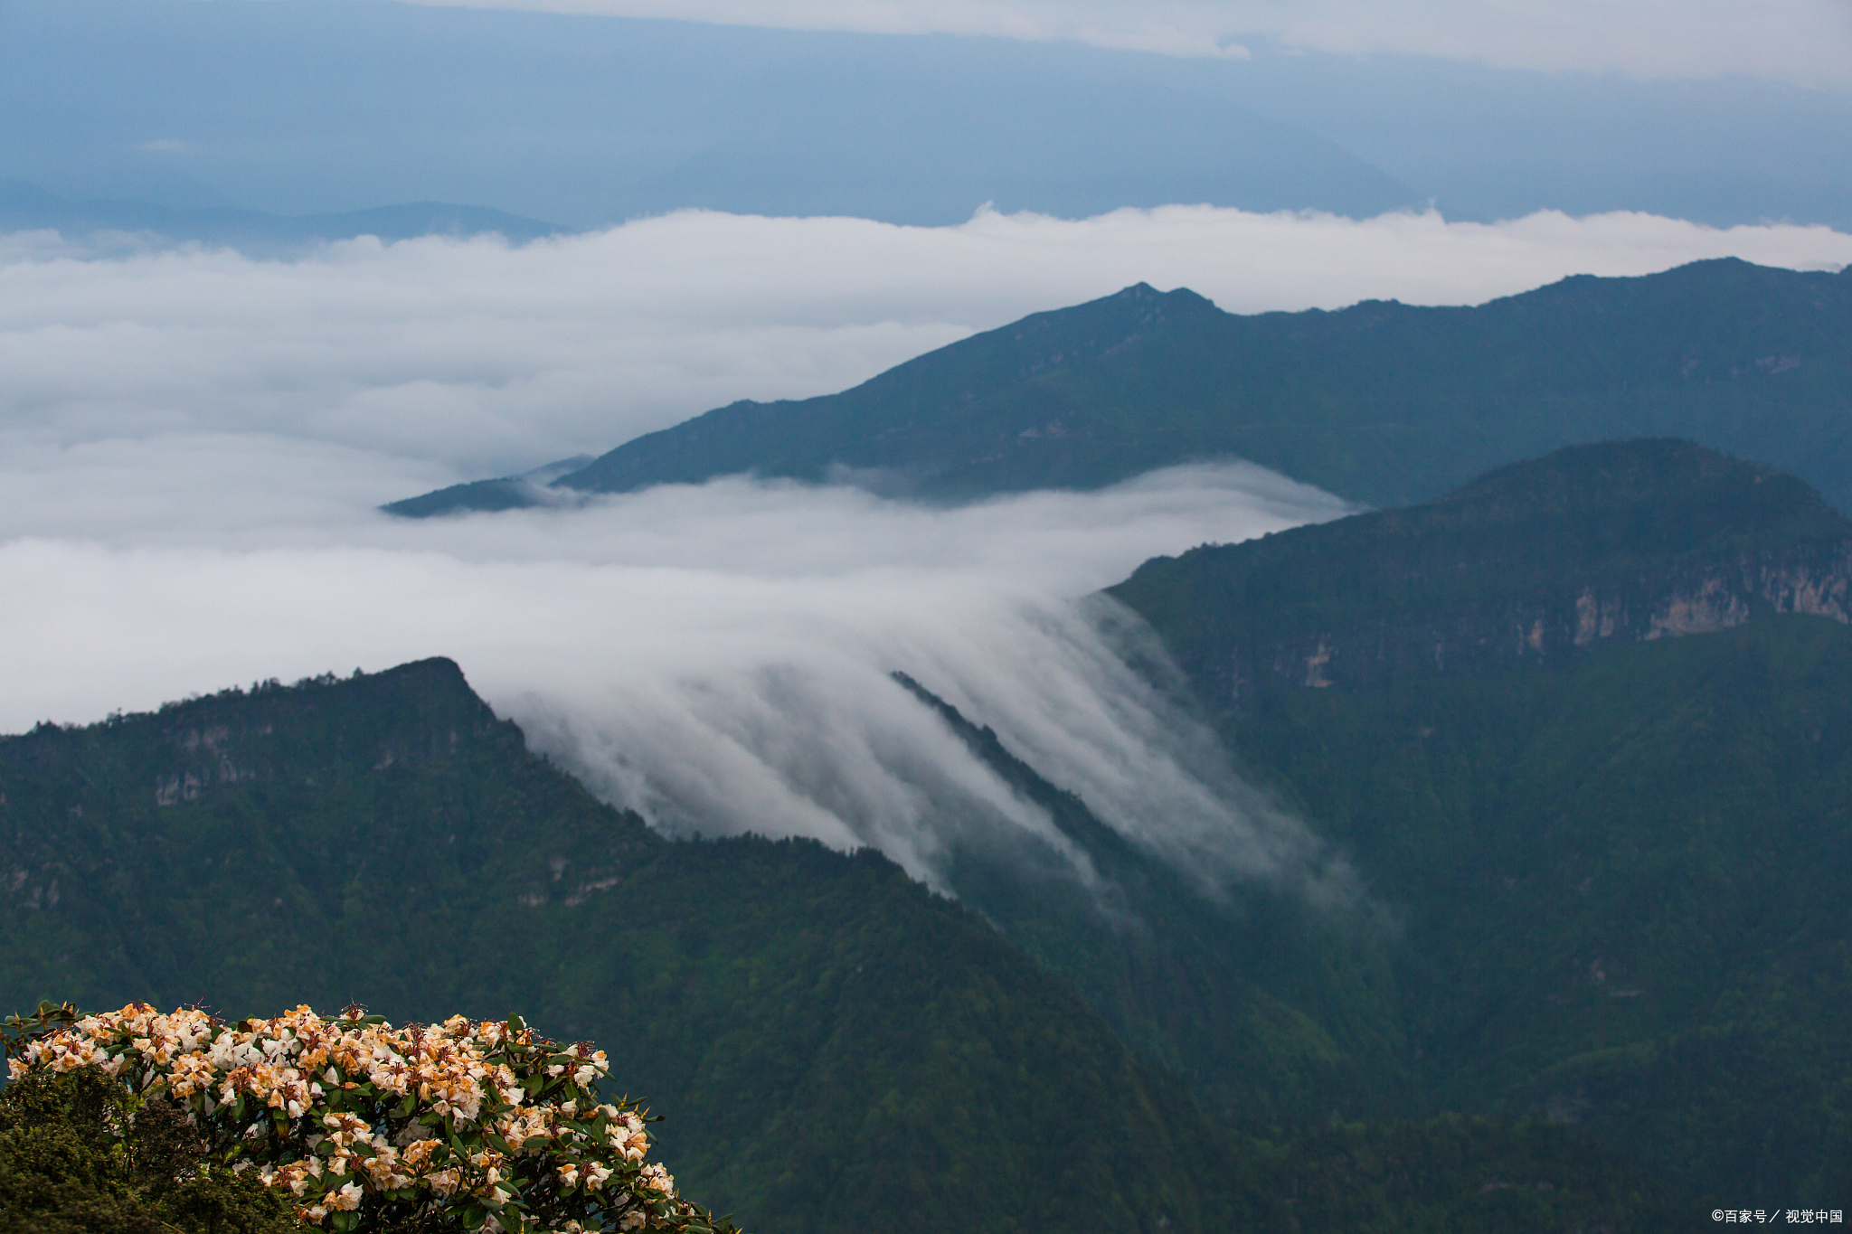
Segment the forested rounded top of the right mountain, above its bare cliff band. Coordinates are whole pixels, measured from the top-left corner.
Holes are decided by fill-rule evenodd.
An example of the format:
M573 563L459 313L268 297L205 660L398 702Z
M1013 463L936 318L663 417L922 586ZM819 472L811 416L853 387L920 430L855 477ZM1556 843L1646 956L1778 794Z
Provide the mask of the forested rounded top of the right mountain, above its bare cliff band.
M1852 524L1793 475L1680 440L1578 446L1408 509L1154 557L1109 594L1174 651L1404 612L1671 579L1745 553L1835 555Z

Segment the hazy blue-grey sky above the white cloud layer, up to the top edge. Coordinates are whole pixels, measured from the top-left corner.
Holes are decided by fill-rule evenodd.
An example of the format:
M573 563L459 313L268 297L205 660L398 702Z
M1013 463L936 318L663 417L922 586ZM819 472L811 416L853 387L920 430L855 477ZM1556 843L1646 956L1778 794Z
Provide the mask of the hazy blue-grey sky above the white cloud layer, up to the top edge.
M1843 0L1754 30L1758 6L1652 4L606 15L663 7L0 0L0 179L285 215L443 200L572 228L685 205L946 224L983 202L1852 226ZM1222 54L1167 54L1206 48Z

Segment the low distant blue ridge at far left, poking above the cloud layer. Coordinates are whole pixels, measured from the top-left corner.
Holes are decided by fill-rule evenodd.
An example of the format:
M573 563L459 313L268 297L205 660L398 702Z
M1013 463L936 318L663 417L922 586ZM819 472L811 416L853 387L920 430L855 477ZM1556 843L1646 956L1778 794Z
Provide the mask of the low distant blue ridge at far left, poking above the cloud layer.
M0 179L0 231L52 229L65 237L107 231L167 242L224 244L254 257L287 255L330 241L376 235L502 235L537 241L563 228L482 205L411 202L337 215L265 215L254 209L174 209L146 202L72 202L19 179Z

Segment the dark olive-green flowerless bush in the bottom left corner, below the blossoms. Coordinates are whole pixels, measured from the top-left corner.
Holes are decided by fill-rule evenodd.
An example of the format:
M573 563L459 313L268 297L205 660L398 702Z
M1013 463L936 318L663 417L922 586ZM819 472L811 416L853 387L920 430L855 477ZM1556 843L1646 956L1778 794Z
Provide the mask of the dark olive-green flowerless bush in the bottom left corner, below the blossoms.
M215 1169L185 1112L139 1101L94 1067L0 1093L0 1230L7 1234L283 1234L283 1195Z

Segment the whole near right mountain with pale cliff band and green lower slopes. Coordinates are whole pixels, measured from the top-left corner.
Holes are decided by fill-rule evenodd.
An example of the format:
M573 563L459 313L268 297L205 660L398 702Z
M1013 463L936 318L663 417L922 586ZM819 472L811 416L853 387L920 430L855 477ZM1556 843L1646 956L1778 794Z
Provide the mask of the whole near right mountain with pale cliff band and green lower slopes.
M1852 524L1819 494L1570 448L1111 594L1398 923L1424 1103L1852 1193Z

